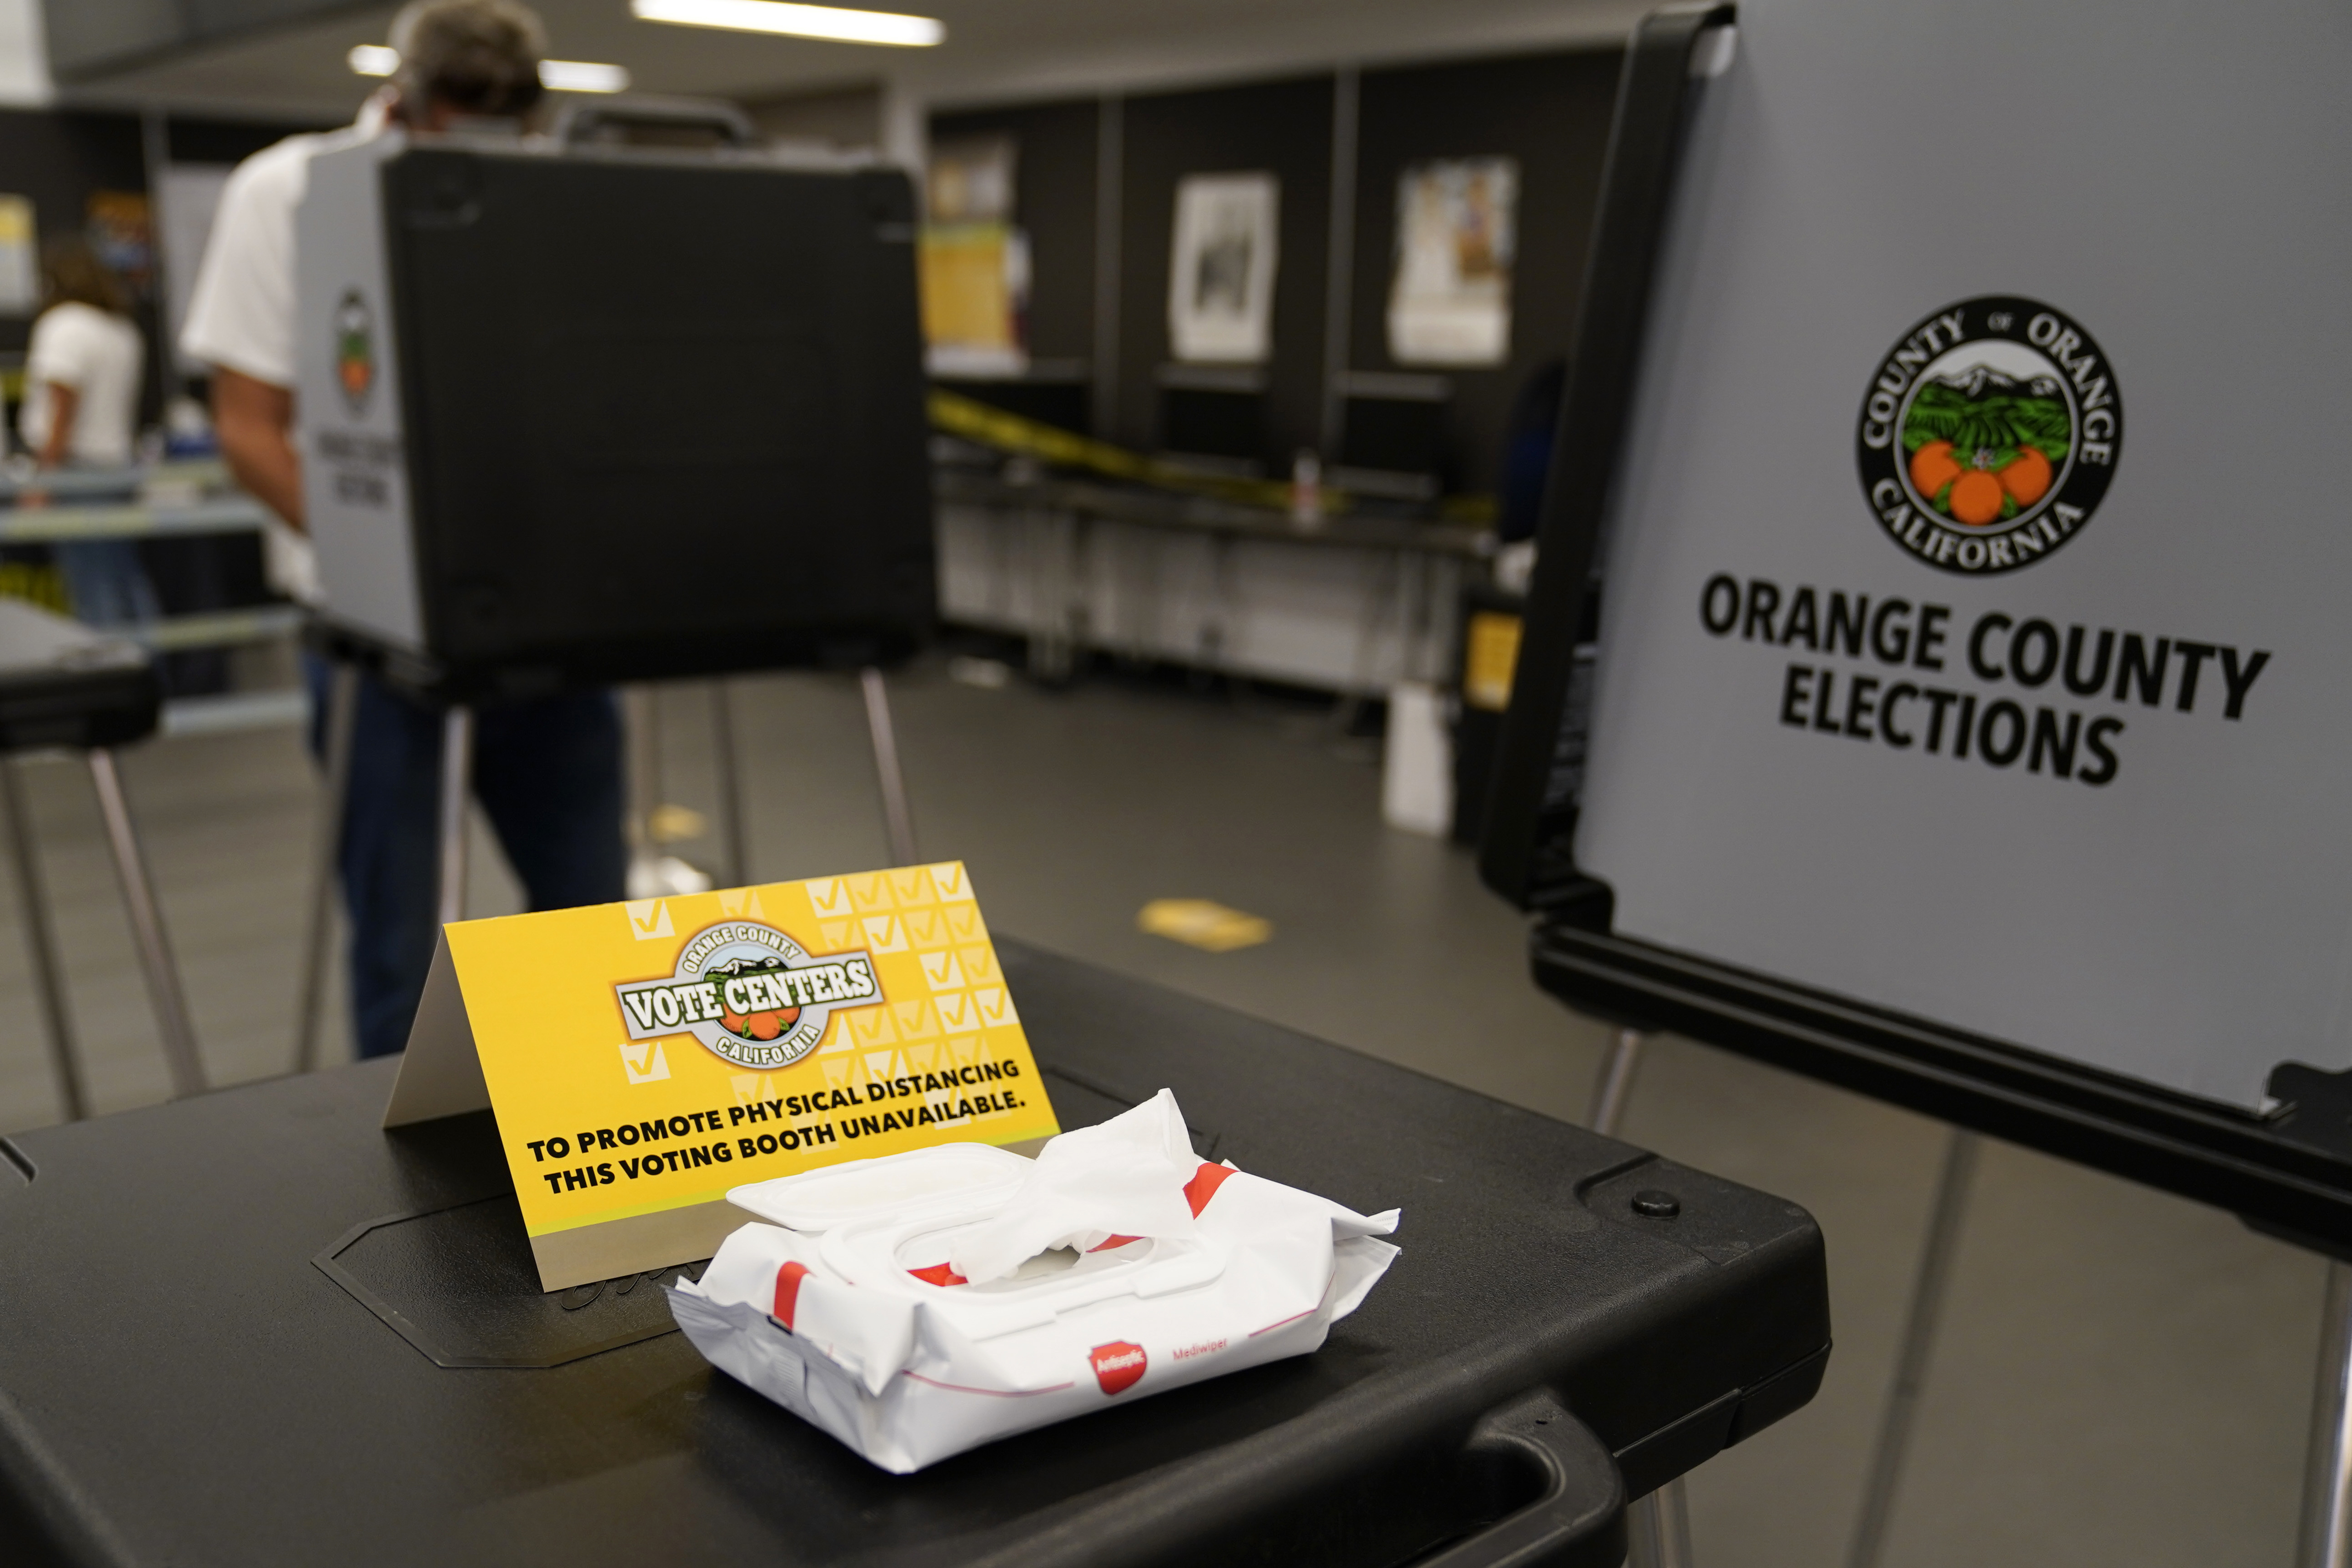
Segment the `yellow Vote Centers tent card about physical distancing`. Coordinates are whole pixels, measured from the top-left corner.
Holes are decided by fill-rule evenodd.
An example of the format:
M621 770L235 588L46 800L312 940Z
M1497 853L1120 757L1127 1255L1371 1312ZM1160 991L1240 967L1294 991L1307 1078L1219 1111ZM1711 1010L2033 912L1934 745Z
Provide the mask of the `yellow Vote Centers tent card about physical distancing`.
M743 1182L1061 1131L960 863L445 926L383 1124L485 1105L548 1291L708 1258Z

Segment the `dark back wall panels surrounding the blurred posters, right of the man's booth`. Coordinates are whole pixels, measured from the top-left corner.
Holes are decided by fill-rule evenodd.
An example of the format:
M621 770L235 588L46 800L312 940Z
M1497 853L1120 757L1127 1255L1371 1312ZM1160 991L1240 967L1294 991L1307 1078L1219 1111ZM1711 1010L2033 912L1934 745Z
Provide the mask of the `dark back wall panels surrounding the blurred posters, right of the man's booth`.
M1545 360L1569 353L1621 59L1618 49L1576 49L1392 66L1364 71L1355 82L1350 310L1345 353L1336 355L1343 369L1399 369L1388 357L1385 313L1402 169L1425 158L1519 160L1510 364L1444 371L1454 383L1449 456L1456 489L1494 489L1515 393ZM1117 122L1117 378L1110 416L1096 421L1096 433L1145 449L1157 440L1152 374L1169 357L1176 181L1240 169L1279 174L1282 266L1263 458L1270 473L1287 473L1291 451L1324 444L1327 247L1334 113L1341 108L1343 85L1312 75L941 113L931 136L1011 132L1018 139L1018 221L1030 230L1037 261L1030 353L1094 364L1103 357L1096 353L1101 136L1105 122Z

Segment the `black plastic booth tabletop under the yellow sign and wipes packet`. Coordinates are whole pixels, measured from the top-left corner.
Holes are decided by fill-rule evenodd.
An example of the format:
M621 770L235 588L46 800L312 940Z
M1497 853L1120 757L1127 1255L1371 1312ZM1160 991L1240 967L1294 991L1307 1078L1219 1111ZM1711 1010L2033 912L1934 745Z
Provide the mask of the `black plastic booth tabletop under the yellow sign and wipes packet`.
M1616 1568L1628 1495L1820 1385L1795 1204L1002 961L1065 1128L1169 1086L1204 1159L1402 1206L1319 1352L891 1476L713 1371L647 1279L541 1295L489 1117L388 1133L365 1063L0 1140L9 1561Z

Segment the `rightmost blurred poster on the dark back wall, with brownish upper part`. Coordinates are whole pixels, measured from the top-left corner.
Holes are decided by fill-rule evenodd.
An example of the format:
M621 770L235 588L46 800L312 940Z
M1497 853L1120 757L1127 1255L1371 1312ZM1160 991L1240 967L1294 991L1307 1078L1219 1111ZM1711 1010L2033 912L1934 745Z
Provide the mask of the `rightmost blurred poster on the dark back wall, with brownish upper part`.
M1388 357L1397 364L1510 360L1510 263L1519 165L1512 158L1416 162L1397 181L1397 277Z

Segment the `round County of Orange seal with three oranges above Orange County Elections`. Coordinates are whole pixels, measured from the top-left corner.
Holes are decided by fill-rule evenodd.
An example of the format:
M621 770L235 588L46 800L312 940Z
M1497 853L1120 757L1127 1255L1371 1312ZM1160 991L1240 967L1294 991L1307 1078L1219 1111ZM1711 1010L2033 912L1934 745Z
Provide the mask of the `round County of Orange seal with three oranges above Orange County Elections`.
M1853 461L1879 527L1940 571L2030 567L2091 522L2124 397L2063 310L1985 294L1922 317L1879 362Z

